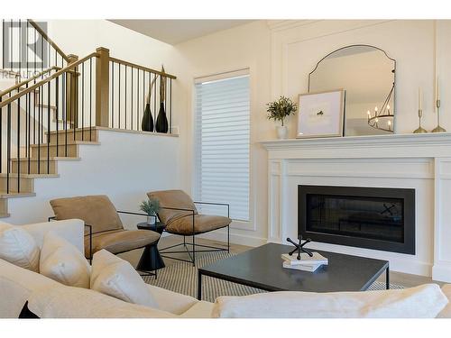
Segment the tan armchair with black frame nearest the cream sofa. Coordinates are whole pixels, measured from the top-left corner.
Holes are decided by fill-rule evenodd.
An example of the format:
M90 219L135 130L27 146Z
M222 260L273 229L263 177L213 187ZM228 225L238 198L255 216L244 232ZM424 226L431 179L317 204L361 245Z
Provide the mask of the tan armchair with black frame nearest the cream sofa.
M153 231L125 230L118 211L104 195L58 198L50 203L56 220L78 218L90 227L91 234L85 236L85 256L89 260L102 249L117 254L152 245L160 239L160 233Z

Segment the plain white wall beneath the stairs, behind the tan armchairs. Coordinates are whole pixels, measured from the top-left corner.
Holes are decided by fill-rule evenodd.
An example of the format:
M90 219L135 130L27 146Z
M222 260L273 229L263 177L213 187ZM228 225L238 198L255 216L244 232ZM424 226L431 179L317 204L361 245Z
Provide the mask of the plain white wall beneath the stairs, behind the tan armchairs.
M179 138L99 131L100 145L80 145L80 160L58 162L60 178L34 180L36 196L8 200L5 222L43 222L53 198L105 194L119 210L139 212L146 192L179 187ZM141 218L123 218L132 227Z

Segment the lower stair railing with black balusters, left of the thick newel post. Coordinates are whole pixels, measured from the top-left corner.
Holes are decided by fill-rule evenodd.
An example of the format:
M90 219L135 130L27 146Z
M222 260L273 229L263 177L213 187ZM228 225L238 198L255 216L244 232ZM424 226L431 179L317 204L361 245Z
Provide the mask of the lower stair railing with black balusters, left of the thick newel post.
M77 141L95 141L97 57L91 53L3 96L0 174L7 194L21 193L27 175L56 173L55 159L70 157Z

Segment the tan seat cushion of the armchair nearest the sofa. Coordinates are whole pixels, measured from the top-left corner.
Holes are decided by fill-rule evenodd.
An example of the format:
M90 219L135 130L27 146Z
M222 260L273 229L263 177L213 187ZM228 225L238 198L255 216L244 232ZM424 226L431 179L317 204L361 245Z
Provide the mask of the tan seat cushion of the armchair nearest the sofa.
M130 251L157 242L160 233L152 230L113 230L92 236L92 253L105 249L112 253ZM85 237L85 252L89 255L89 236Z

